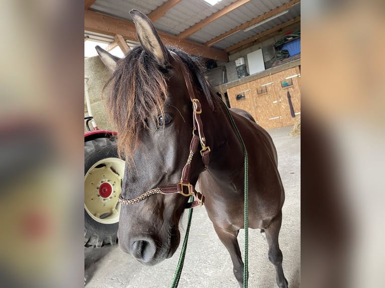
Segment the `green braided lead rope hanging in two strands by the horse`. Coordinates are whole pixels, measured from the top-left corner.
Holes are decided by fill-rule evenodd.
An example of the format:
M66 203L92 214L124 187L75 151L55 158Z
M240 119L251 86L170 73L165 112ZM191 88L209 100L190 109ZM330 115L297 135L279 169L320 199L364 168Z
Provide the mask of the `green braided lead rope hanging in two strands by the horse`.
M222 99L221 99L222 100ZM233 119L233 116L231 115L229 109L227 108L226 104L222 101L223 105L226 108L227 114L230 118L231 123L233 124L234 130L237 134L237 137L239 141L241 142L243 154L245 156L244 159L244 166L245 166L245 183L244 183L244 190L245 190L245 206L244 206L244 228L245 228L245 259L243 264L243 288L247 288L247 280L249 278L249 270L248 270L248 257L249 257L249 204L248 204L248 191L249 191L249 166L248 166L248 158L247 158L247 150L245 143L243 142L243 139L241 137L241 133L239 132L237 125L235 124L235 121ZM190 196L190 201L193 200L193 197ZM178 265L175 270L174 278L172 279L171 288L176 288L179 283L180 274L182 273L183 269L183 262L184 262L184 256L186 254L186 248L187 248L187 240L188 240L188 232L190 231L191 226L191 218L192 218L192 208L188 211L188 219L187 219L187 228L186 228L186 234L184 236L183 240L183 246L182 250L180 251L179 261Z

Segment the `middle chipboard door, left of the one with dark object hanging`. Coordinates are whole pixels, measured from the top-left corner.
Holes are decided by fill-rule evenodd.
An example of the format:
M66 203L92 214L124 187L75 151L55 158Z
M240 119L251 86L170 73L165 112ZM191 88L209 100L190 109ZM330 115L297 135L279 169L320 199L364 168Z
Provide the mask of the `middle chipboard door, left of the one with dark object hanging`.
M265 129L282 127L279 103L270 76L256 79L249 84L253 95L254 114L256 114L258 124Z

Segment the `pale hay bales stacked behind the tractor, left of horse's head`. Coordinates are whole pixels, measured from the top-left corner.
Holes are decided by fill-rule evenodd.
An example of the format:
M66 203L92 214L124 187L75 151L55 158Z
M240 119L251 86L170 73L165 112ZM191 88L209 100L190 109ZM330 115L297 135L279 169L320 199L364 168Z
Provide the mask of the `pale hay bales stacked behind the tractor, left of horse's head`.
M110 71L106 68L99 56L84 58L84 75L89 76L89 100L91 102L91 110L100 129L113 130L113 126L108 120L108 113L105 107L105 101L102 100L102 89L110 78ZM108 97L108 91L104 93L104 97ZM87 116L87 106L84 98L84 115ZM86 131L84 121L84 131Z

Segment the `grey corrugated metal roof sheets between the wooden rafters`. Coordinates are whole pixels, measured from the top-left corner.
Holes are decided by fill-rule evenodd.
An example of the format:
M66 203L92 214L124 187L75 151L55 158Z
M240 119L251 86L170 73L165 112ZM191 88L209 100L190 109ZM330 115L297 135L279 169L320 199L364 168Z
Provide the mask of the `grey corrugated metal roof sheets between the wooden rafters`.
M149 14L157 7L165 3L167 0L97 0L90 9L102 14L131 21L129 11L138 9L144 14ZM154 22L156 29L166 32L171 35L177 35L187 28L199 23L212 14L220 11L228 5L236 2L235 0L223 0L222 2L209 6L203 0L183 0L171 9L166 14ZM243 6L233 10L232 12L220 17L214 22L204 26L201 30L190 35L187 39L198 43L206 43L219 35L238 27L253 18L256 18L264 13L275 9L288 0L252 0ZM273 28L276 25L294 19L301 15L301 6L295 5L288 13L279 16L267 23L264 23L247 32L243 30L215 43L213 47L226 49L235 45L249 37L256 36L259 33Z

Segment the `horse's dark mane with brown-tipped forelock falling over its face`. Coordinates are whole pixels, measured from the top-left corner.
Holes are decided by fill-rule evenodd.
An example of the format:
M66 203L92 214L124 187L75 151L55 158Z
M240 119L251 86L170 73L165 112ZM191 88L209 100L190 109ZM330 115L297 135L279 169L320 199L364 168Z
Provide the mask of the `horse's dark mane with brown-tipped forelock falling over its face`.
M209 106L214 110L215 94L205 76L201 58L175 47L166 48L181 58L192 76L192 81L202 90ZM142 132L148 129L148 115L154 111L163 114L163 105L167 100L166 80L170 68L159 67L138 45L118 62L117 69L104 86L103 91L107 86L111 87L106 104L109 119L118 132L119 156L133 160Z

